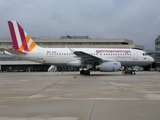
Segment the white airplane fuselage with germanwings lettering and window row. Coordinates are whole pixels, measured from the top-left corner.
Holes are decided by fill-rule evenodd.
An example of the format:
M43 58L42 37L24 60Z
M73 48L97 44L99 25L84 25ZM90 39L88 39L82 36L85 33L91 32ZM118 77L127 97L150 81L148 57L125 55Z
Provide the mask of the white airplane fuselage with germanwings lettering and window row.
M67 65L79 60L73 51L83 51L103 60L115 60L122 66L144 66L153 63L154 59L144 51L136 49L105 49L105 48L42 48L37 46L27 54L14 54L16 57L50 65Z

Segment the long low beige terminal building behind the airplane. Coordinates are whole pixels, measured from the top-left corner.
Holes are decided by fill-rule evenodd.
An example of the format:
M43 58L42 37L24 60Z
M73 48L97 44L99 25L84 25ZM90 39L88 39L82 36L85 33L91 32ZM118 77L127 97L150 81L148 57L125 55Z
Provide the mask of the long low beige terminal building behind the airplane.
M144 50L144 46L136 45L132 40L124 38L89 38L88 36L61 36L60 38L32 38L39 46L48 48L133 48ZM50 65L26 61L4 55L4 49L12 48L11 38L0 39L0 70L26 72L47 71ZM57 66L58 71L75 71L79 68Z

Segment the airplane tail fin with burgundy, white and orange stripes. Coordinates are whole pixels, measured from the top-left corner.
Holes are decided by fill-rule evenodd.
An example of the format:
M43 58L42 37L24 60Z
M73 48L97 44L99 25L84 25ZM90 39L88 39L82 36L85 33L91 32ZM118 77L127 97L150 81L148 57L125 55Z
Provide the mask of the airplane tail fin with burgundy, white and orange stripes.
M16 21L8 21L10 34L12 37L13 48L16 51L29 52L36 47L36 43L23 30Z

